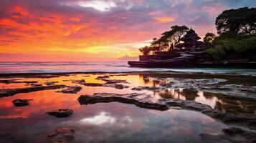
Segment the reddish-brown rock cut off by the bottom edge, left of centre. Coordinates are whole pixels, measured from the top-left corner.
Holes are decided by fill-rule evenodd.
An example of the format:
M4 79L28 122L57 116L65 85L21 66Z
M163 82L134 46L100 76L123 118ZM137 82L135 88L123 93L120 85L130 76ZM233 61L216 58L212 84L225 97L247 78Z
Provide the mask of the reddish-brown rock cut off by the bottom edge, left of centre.
M61 143L74 143L75 130L68 127L59 127L54 132L47 134L47 137L42 137L34 143L46 143L46 142L61 142Z

